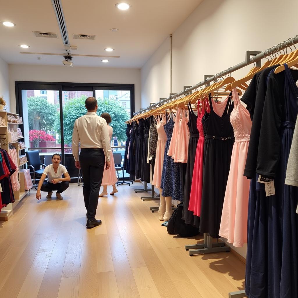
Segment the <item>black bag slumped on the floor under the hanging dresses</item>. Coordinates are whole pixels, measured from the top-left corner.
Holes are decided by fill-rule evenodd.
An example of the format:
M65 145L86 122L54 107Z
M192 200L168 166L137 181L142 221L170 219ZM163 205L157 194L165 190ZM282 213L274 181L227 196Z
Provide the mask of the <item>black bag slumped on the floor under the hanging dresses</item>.
M180 235L181 237L192 237L199 234L199 229L185 224L182 217L183 202L177 205L177 209L174 210L171 218L168 221L167 232L169 234Z

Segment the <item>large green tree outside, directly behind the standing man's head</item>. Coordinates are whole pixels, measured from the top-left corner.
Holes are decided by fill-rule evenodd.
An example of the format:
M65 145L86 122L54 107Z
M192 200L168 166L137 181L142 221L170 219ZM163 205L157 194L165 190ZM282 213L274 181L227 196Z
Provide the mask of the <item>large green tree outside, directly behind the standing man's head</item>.
M72 131L75 120L86 114L86 98L86 95L82 95L81 97L69 100L63 105L64 144L66 145L72 144ZM111 126L113 127L113 136L117 136L118 142L125 141L126 125L124 122L130 118L125 108L120 105L117 100L102 100L101 98L97 98L97 101L97 114L100 116L102 113L109 113L112 118ZM56 115L54 128L55 131L61 135L59 114ZM61 143L61 139L56 140L56 142Z

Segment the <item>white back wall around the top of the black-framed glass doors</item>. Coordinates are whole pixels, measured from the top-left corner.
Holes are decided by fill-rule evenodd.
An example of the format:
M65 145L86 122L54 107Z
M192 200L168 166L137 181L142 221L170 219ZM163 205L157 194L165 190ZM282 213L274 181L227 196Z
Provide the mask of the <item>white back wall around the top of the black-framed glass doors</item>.
M11 64L9 65L9 90L12 112L16 111L15 81L135 84L135 110L140 108L140 69Z

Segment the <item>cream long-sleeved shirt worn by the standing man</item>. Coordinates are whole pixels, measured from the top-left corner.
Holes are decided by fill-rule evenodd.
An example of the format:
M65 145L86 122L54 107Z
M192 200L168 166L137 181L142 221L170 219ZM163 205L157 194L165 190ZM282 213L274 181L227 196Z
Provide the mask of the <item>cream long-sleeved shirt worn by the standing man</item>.
M111 143L105 119L95 112L87 112L86 115L75 120L72 132L72 155L75 161L79 160L79 144L81 149L103 148L105 158L109 162Z

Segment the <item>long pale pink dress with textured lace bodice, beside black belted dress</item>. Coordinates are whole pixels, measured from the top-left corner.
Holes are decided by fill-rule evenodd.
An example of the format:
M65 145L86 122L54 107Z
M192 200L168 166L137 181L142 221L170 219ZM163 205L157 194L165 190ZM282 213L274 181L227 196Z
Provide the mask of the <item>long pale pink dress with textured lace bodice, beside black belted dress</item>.
M240 103L236 89L233 89L234 109L230 122L234 129L231 167L229 171L219 235L242 247L247 242L247 215L250 180L243 176L249 144L252 121L249 111Z

